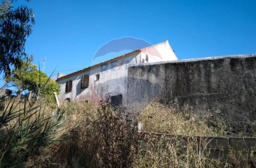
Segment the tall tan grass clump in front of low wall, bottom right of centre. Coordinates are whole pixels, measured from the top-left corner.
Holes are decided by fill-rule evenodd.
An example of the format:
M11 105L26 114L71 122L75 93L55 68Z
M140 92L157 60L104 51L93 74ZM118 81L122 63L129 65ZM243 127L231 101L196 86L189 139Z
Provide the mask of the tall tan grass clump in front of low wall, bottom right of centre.
M134 167L205 167L206 164L210 166L207 159L209 151L204 146L205 142L197 145L193 138L145 135L140 142L138 159Z

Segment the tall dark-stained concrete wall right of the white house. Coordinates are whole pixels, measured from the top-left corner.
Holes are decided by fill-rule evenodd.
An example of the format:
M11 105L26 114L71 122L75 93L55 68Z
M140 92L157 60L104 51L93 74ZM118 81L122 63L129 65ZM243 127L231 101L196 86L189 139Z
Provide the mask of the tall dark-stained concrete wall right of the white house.
M256 130L256 55L204 58L128 68L128 105L156 100L190 105L225 121L230 135Z

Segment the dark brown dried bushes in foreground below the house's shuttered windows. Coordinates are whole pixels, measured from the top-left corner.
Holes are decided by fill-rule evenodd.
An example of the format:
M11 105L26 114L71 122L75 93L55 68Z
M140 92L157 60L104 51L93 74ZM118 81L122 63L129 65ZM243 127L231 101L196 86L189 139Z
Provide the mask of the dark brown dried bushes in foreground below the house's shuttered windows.
M59 167L132 167L138 136L135 123L106 103L96 110L90 107L87 103L63 107L66 114L78 117L74 121L71 115L75 127L68 132L69 139L53 151L51 162Z

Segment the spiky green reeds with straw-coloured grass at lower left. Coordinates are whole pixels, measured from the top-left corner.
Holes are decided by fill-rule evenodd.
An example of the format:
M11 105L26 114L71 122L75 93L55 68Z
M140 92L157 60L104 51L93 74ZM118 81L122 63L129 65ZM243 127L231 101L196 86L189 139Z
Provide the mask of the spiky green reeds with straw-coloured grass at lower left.
M0 111L0 167L24 167L41 149L58 141L63 113L52 115L46 105L10 98Z

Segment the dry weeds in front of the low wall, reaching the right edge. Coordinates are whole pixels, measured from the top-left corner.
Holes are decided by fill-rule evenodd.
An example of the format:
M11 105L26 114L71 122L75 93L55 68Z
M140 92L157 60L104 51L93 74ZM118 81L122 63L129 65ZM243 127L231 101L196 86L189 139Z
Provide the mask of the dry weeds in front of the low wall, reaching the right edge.
M139 142L134 167L255 167L255 149L211 149L210 140L147 134Z

